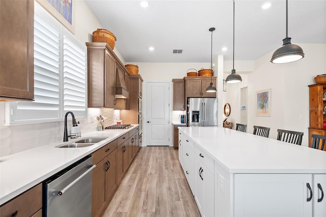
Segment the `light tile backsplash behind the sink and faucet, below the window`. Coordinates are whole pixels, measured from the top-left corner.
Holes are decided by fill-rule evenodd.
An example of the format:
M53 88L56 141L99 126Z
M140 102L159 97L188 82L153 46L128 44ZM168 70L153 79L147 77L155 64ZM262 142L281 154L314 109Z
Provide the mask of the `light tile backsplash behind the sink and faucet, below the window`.
M5 126L5 113L5 102L0 102L0 157L63 141L64 121ZM76 118L82 126L82 136L84 133L96 130L96 116L99 115L106 118L105 126L116 124L120 120L120 110L88 108L88 118ZM68 117L69 134L71 117Z

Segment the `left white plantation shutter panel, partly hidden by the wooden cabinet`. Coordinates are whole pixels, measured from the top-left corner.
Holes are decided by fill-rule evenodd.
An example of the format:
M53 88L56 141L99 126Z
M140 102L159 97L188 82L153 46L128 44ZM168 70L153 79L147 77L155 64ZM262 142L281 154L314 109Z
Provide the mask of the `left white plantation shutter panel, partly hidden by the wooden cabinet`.
M37 10L35 10L37 12ZM34 14L34 99L13 103L12 121L60 117L59 25Z

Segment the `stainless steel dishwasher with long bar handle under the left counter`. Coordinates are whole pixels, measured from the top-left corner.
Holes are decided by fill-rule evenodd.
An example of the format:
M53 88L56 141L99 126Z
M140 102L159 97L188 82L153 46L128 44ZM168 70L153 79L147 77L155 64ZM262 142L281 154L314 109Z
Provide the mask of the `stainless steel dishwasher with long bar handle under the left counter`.
M43 216L92 215L92 156L84 157L43 182Z

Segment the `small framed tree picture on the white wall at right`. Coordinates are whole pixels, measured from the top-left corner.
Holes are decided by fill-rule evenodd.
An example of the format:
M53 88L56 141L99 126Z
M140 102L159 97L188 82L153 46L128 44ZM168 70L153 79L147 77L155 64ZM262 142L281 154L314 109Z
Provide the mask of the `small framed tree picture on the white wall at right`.
M270 89L256 92L256 116L270 116Z

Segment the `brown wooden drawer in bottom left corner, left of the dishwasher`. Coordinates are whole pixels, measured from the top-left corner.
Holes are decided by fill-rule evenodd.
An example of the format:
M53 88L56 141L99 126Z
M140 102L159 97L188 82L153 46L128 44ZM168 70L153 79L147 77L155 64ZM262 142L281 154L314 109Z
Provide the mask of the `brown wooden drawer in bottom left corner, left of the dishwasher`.
M42 183L2 205L0 207L0 216L32 216L41 208Z

